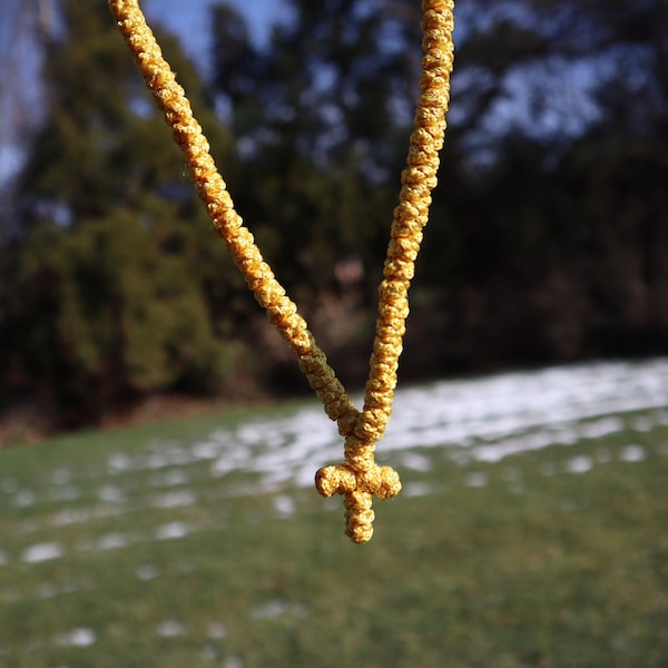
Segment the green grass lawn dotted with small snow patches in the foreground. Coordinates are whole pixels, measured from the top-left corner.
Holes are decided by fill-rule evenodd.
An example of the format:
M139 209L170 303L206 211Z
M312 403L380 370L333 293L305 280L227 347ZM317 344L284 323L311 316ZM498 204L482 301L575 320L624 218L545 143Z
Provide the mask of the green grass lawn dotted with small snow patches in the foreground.
M666 667L648 415L498 462L381 444L405 489L362 547L341 499L212 475L196 444L255 414L1 452L0 666Z

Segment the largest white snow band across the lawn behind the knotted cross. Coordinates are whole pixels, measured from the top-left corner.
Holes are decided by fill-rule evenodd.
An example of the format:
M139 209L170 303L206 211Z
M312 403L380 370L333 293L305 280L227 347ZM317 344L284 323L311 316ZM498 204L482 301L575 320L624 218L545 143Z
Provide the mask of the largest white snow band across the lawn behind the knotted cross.
M415 446L455 446L453 458L461 458L465 448L469 459L499 461L625 429L647 431L668 420L666 405L668 358L443 381L396 392L394 413L377 452L382 458L382 453ZM611 415L636 410L655 413L631 424ZM336 425L313 405L289 418L216 431L194 448L198 450L200 456L217 453L210 469L214 478L243 469L261 473L267 489L276 489L286 482L313 484L314 471L341 461L342 439ZM413 470L429 465L423 454L406 452L401 459Z

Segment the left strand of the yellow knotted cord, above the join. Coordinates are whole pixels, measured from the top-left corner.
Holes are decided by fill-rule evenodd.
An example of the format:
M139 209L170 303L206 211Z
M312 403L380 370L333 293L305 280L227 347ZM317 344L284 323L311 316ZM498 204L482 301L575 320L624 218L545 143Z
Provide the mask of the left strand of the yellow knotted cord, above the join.
M299 367L322 401L326 414L337 422L340 433L347 435L360 412L235 210L227 186L209 153L209 144L193 116L190 102L163 57L138 1L109 0L109 7L141 70L146 86L163 110L174 139L184 153L190 178L216 233L225 242L255 298L266 310L269 321L297 356Z

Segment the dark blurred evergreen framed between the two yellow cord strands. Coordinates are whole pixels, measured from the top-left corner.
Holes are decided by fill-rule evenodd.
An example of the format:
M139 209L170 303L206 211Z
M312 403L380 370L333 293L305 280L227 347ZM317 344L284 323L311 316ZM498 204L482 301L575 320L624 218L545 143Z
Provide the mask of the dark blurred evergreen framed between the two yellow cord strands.
M379 266L386 245L420 40L419 23L383 9L293 0L266 50L234 10L214 9L214 87L245 174L235 197L287 285L303 291L306 275L314 294L338 259Z

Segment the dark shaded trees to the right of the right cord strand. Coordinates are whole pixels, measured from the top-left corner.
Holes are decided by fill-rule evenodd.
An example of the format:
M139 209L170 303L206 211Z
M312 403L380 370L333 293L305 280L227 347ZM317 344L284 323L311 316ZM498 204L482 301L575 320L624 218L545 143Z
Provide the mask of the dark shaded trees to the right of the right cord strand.
M459 19L450 226L423 263L433 285L454 244L450 361L665 352L666 4L481 0Z

